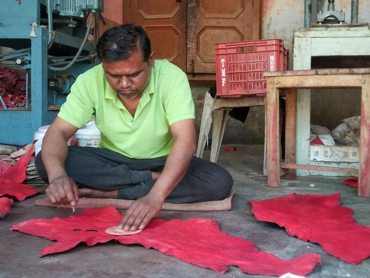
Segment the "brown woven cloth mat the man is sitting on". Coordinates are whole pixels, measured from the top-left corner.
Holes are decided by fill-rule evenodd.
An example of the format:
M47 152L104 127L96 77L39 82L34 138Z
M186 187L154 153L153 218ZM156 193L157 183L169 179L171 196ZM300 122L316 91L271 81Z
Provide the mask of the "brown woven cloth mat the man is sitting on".
M232 188L229 196L221 201L209 201L191 204L172 204L163 203L162 210L178 210L178 211L221 211L231 209L231 200L235 194L235 189ZM97 209L108 206L113 206L116 209L128 209L133 201L120 199L101 199L101 198L81 198L75 209ZM54 205L48 198L36 200L34 206L54 207L61 209L71 209L70 205Z

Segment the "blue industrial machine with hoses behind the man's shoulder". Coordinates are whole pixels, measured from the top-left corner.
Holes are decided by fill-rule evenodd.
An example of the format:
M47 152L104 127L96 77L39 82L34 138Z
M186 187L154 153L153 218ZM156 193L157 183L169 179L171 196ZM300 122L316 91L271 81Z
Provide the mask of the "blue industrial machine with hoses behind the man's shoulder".
M0 144L32 142L39 127L53 122L75 78L99 63L103 10L103 0L1 1L0 67L25 70L26 103L7 108L0 98Z

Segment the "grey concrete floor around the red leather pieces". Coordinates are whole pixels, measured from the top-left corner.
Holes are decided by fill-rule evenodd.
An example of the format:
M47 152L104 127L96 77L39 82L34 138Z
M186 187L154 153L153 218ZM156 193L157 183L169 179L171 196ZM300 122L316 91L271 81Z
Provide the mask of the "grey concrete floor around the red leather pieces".
M204 157L209 157L205 151ZM263 146L237 145L236 151L220 151L218 163L227 168L234 177L236 194L230 211L179 212L162 211L158 217L170 220L191 217L213 218L220 229L231 235L253 241L259 250L270 252L282 259L292 259L305 253L321 256L322 266L317 266L310 278L370 278L370 258L358 266L345 263L324 252L311 242L291 237L283 228L258 221L250 212L249 200L264 200L286 196L290 193L324 194L341 193L342 206L354 210L354 218L361 225L370 226L370 200L357 197L357 189L344 186L343 177L298 177L296 181L282 180L278 189L266 187L267 178L250 173L262 173ZM254 174L251 174L254 175ZM312 186L312 184L314 186ZM311 186L310 186L311 185ZM11 211L0 218L0 277L1 278L235 278L266 276L247 275L237 267L230 267L222 275L209 269L197 267L177 258L166 256L154 249L146 250L140 245L122 245L108 242L87 247L79 244L75 248L39 258L43 247L52 242L18 231L10 231L10 225L31 218L65 218L69 209L34 207L35 200L43 194L14 202ZM78 210L77 210L78 212Z

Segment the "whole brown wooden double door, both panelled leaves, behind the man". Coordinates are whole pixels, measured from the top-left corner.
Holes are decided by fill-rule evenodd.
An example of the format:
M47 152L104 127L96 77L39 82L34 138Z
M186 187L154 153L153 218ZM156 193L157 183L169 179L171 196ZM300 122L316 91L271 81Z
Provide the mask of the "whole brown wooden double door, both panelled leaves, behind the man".
M144 26L156 59L215 80L215 43L260 38L260 0L123 0L123 23Z

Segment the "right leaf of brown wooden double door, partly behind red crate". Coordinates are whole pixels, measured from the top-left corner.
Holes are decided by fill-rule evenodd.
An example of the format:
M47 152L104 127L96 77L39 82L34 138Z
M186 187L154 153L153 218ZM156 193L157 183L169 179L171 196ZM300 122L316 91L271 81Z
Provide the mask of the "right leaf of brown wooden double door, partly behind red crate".
M188 73L215 73L215 43L260 38L260 0L187 0Z

